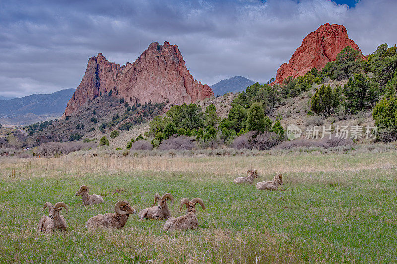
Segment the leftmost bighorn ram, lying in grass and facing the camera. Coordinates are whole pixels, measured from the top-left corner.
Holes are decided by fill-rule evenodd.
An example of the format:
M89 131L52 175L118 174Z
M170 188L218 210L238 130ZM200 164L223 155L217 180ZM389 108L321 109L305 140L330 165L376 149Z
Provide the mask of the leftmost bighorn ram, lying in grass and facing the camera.
M64 216L59 215L59 211L62 210L61 207L65 208L66 212L68 211L66 204L63 202L58 202L53 205L50 202L46 202L44 204L43 211L44 209L46 209L46 207L48 207L48 211L50 215L49 216L43 215L40 218L38 225L39 231L52 232L56 230L61 230L63 232L66 232L67 231L66 220Z

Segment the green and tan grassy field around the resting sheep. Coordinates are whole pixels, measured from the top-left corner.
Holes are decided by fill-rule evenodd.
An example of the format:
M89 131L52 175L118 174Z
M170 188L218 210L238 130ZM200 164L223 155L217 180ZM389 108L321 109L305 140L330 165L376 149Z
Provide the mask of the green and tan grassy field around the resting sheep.
M0 262L397 263L396 154L1 158ZM284 185L233 184L248 168ZM83 184L105 203L81 206ZM174 216L183 197L204 200L198 230L166 233L136 214L123 230L85 227L119 200L140 211L166 192ZM47 201L69 206L68 232L37 232Z

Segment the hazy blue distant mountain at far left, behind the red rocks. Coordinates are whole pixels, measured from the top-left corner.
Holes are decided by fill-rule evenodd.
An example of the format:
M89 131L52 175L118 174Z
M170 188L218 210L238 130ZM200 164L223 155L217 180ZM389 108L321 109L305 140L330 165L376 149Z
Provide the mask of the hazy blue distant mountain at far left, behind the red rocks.
M60 117L74 91L76 89L65 89L52 94L33 94L1 100L0 123L25 125Z

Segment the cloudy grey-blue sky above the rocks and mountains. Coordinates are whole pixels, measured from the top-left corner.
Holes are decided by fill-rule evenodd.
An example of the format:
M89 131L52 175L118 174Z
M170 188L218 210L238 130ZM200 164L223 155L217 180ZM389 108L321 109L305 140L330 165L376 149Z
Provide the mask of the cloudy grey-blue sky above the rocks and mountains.
M88 58L133 62L177 44L193 77L266 82L302 39L343 24L364 54L397 43L396 0L0 0L0 95L76 88Z

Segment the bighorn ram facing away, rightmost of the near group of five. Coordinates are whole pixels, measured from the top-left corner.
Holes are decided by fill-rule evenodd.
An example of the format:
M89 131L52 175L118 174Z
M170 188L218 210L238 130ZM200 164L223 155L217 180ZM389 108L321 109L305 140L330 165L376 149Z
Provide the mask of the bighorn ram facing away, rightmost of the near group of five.
M163 229L165 231L173 231L176 229L180 230L188 230L188 229L196 229L199 227L199 221L196 218L196 204L199 203L202 207L202 210L205 210L204 201L201 198L193 198L192 201L189 201L188 198L182 198L181 207L179 208L179 212L181 212L183 205L186 205L187 214L183 216L179 216L177 218L170 217L165 222Z

